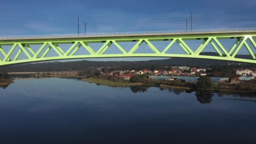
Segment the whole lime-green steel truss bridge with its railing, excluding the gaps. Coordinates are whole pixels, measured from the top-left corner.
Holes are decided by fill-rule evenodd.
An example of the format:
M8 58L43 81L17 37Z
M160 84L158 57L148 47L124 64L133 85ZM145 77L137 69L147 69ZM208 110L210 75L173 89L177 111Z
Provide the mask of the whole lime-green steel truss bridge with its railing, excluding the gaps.
M157 32L120 32L120 33L96 33L96 34L68 34L68 35L28 35L28 36L3 36L0 37L0 66L10 64L21 64L38 61L52 61L62 59L85 59L85 58L113 58L113 57L183 57L199 59L217 59L225 61L239 61L247 63L256 63L256 56L253 49L256 49L256 43L253 38L256 37L256 28L246 29L205 29L192 31L157 31ZM221 39L235 39L232 48L225 48ZM203 41L196 50L192 50L185 41L201 40ZM169 41L170 43L160 51L152 42ZM136 42L129 50L120 45L122 42ZM99 50L94 51L90 43L104 43ZM152 49L153 53L134 53L142 43L145 43ZM166 53L172 48L174 43L178 43L185 54ZM248 43L250 43L250 46ZM64 51L61 44L70 44L70 48ZM206 45L212 45L219 56L204 56L200 53ZM4 46L11 45L8 50ZM34 45L40 45L35 51ZM115 45L121 54L106 54L105 52L111 45ZM252 56L252 59L241 59L235 56L242 46ZM18 51L14 51L18 48ZM75 53L85 48L88 54ZM54 50L58 56L47 56L50 50ZM20 59L21 53L25 53L27 58ZM13 57L11 57L11 55Z

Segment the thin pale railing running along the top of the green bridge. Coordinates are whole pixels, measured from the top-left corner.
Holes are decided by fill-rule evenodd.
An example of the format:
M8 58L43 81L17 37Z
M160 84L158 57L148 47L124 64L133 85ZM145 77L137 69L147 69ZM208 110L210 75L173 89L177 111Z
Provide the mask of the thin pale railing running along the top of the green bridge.
M88 34L18 35L18 36L0 36L0 40L22 39L22 38L97 37L97 36L115 36L115 35L189 34L189 33L241 32L241 31L256 31L256 28L195 29L195 30L144 31L144 32L107 32L107 33L88 33Z

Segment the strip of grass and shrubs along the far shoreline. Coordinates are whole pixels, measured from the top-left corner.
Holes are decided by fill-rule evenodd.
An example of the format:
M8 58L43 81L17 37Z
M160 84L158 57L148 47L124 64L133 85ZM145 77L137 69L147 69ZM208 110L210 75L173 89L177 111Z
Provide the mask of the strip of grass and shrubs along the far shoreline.
M151 86L151 87L160 87L160 88L170 88L170 89L180 89L186 91L209 91L209 92L222 92L222 93L256 93L256 91L243 91L236 90L236 85L227 85L227 84L212 84L209 88L197 88L195 83L184 83L181 81L163 81L163 80L149 80L143 79L134 80L134 81L123 81L119 79L108 80L101 77L87 77L87 76L64 76L58 75L57 77L65 78L72 77L80 79L80 81L88 83L96 83L98 85L107 85L111 87L123 87L123 86ZM8 86L11 83L14 83L13 80L28 80L35 78L19 78L19 79L1 79L0 86ZM204 85L204 84L203 84Z

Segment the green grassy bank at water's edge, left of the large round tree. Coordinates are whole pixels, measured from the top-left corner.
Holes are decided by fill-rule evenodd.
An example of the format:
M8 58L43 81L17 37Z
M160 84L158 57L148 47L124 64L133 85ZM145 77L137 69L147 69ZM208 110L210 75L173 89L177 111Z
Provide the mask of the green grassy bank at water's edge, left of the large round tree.
M112 87L143 85L143 83L117 82L117 81L110 81L110 80L103 80L103 79L82 79L81 81L85 81L89 83L97 83L101 85L108 85Z

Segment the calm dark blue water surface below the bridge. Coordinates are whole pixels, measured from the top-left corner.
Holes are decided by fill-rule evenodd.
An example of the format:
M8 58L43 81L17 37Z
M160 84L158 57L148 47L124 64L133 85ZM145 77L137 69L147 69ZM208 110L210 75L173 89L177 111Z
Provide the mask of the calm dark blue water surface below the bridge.
M60 78L16 80L0 88L0 144L255 144L255 101L253 94L112 88Z

